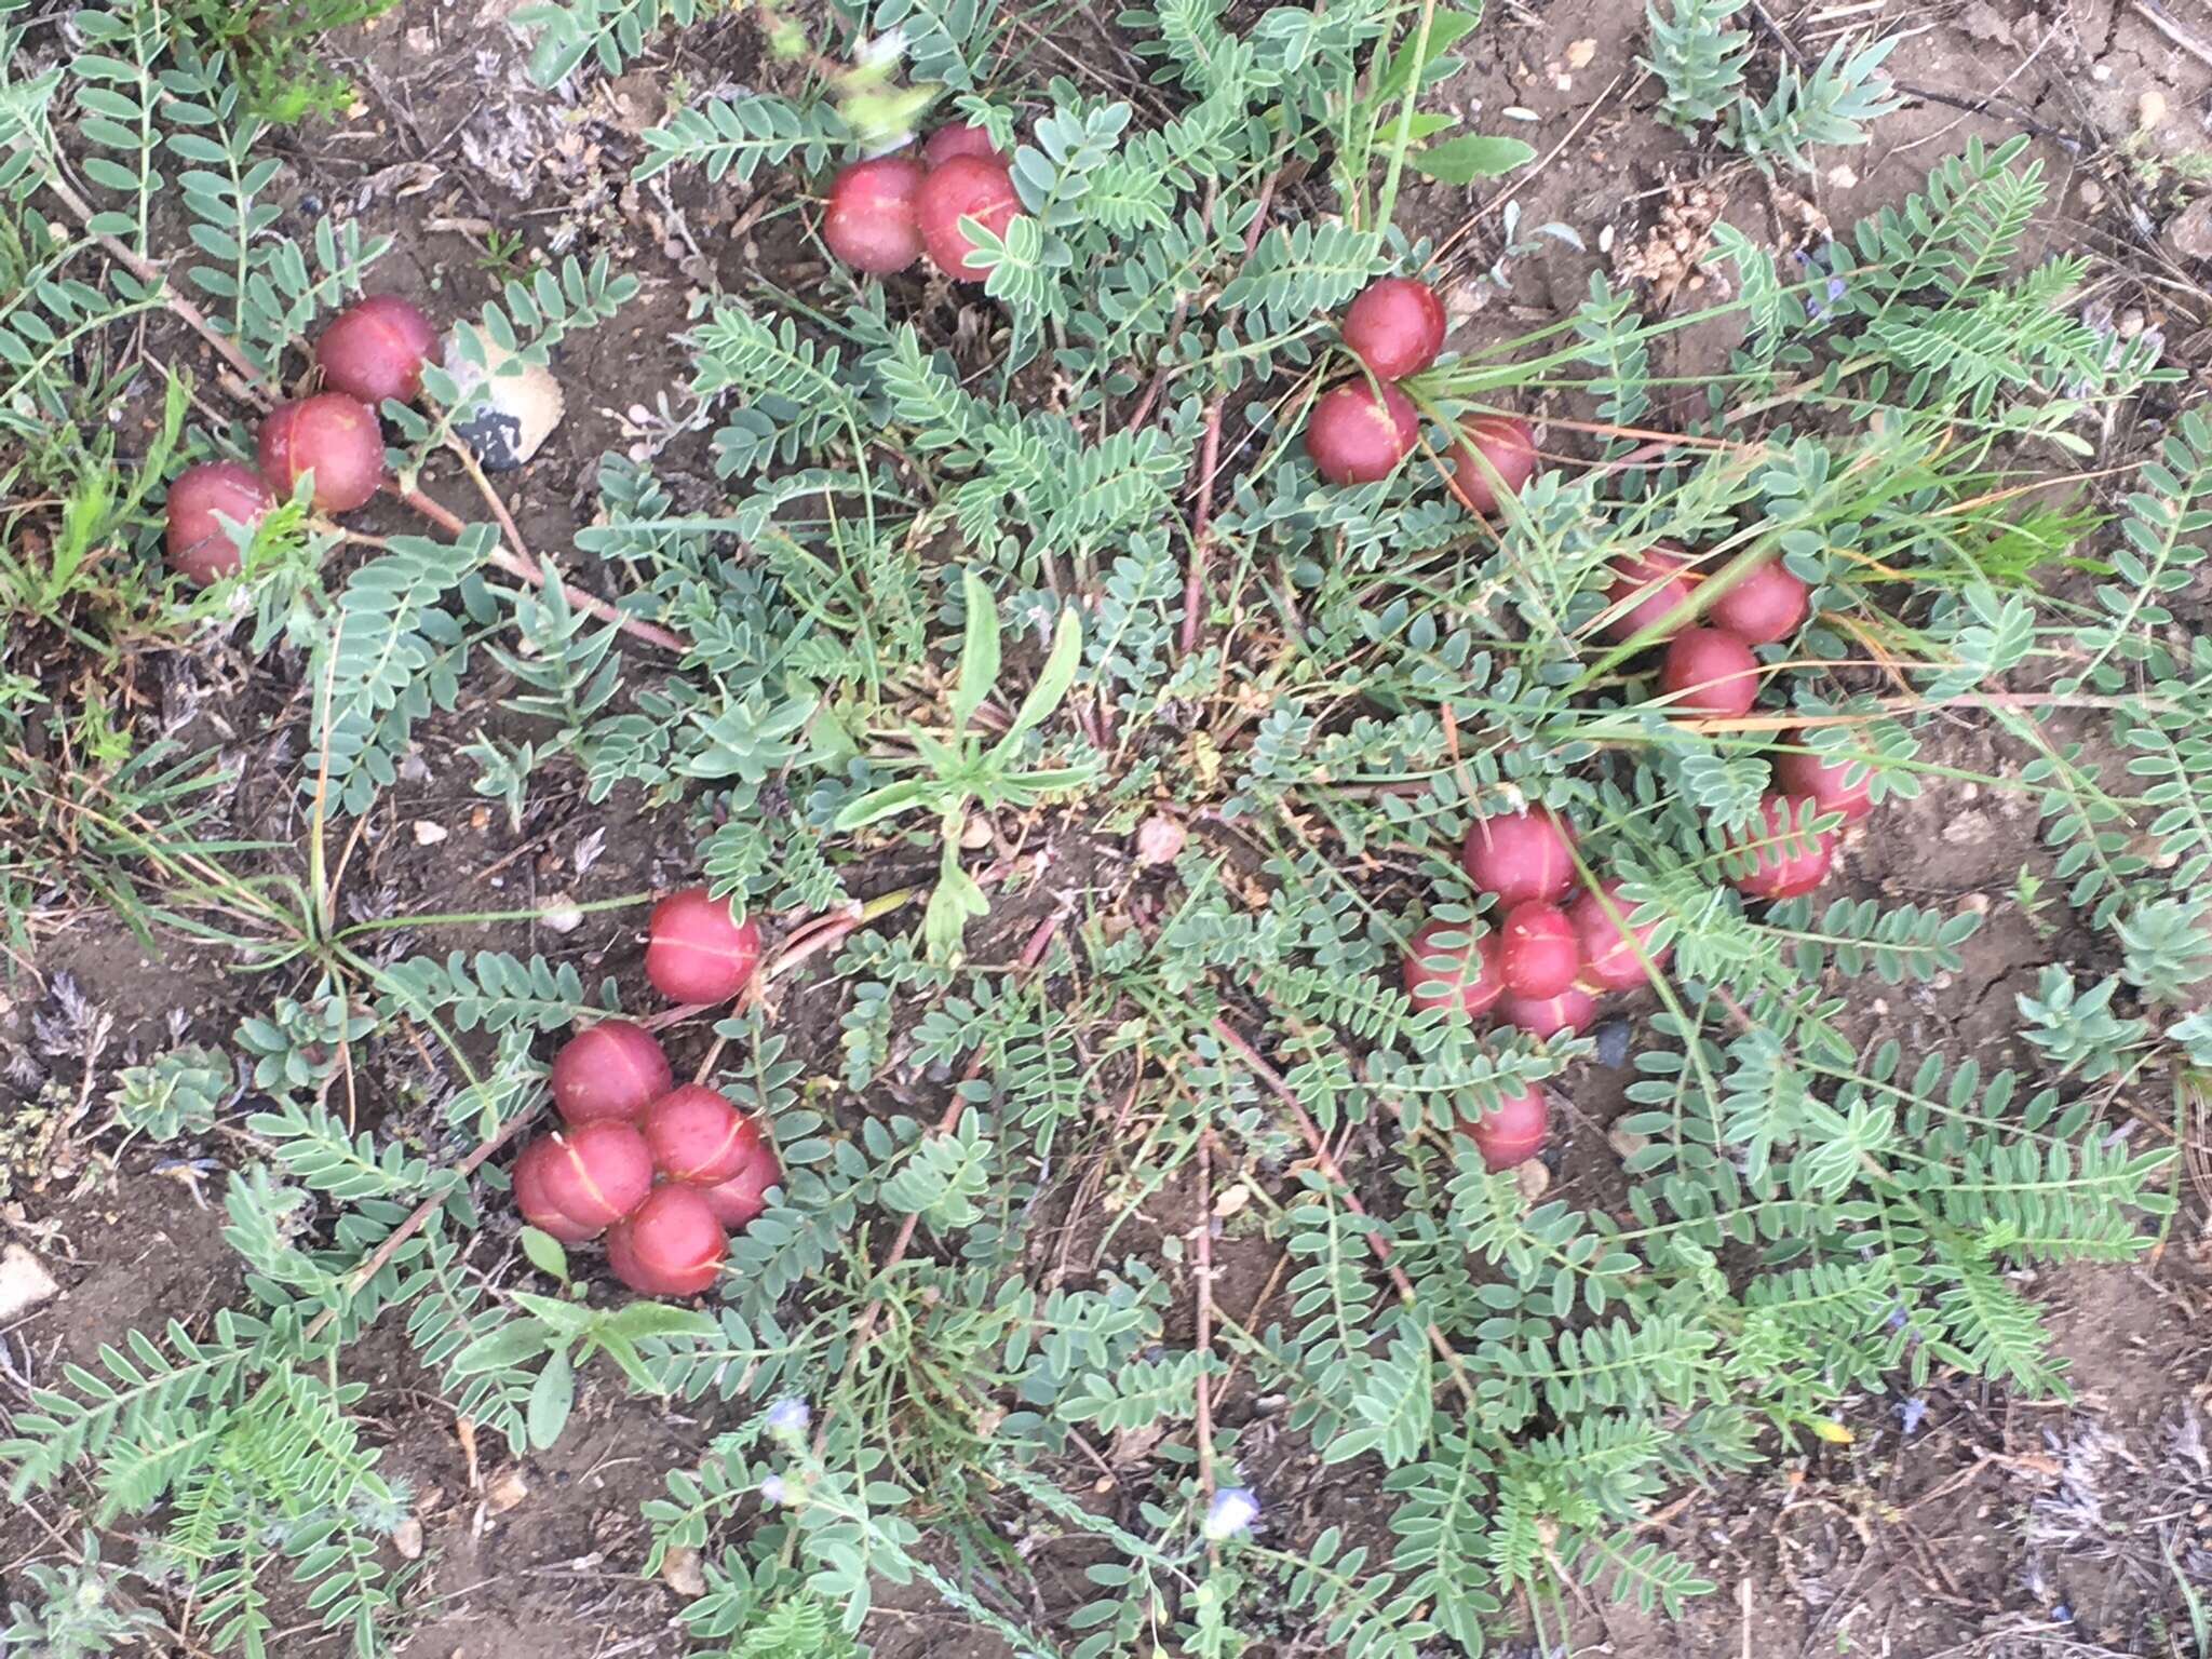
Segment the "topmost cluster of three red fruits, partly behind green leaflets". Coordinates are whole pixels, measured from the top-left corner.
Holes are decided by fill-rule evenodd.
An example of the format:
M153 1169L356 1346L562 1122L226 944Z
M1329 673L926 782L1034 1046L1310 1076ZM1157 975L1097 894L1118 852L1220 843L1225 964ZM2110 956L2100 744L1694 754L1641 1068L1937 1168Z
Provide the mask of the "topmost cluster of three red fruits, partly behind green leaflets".
M980 126L940 126L922 144L922 159L880 155L854 161L830 184L823 241L847 265L889 276L922 250L947 276L980 283L975 243L960 230L973 219L1004 239L1022 210L1013 192L1013 168L991 148Z

